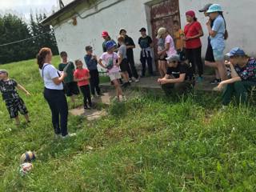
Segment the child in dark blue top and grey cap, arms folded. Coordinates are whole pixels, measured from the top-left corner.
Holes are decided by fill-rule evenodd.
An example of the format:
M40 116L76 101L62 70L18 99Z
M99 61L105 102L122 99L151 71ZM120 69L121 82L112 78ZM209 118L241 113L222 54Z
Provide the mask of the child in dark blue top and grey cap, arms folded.
M101 89L99 88L99 78L98 78L98 60L97 56L93 55L93 48L91 46L86 46L86 56L85 62L88 70L90 70L90 91L95 97L95 89L98 95L101 94Z

